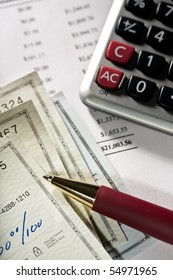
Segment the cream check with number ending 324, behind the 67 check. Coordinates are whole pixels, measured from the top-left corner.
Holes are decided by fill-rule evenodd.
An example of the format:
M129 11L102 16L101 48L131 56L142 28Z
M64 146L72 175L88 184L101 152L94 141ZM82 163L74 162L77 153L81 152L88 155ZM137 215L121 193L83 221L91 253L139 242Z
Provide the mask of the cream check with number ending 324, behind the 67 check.
M68 176L76 180L93 181L92 172L89 170L87 163L64 124L61 115L58 113L52 100L45 91L36 72L0 89L0 113L9 112L9 109L28 100L32 100L37 112L39 112L40 118L65 166ZM70 203L73 204L74 209L93 231L93 226L86 213L86 209L80 203L74 202L73 200L71 200ZM103 222L100 215L94 215L94 225L96 229L101 231L101 236L104 236L106 243L112 244L113 231L110 230L107 218L104 218ZM116 222L112 221L111 224L116 224ZM114 240L116 240L116 238L114 238Z

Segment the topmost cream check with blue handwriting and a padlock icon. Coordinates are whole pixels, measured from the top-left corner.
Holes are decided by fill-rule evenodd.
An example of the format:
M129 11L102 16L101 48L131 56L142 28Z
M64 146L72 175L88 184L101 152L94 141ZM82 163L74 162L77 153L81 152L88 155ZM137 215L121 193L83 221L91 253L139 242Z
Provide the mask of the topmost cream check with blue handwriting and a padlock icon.
M0 142L0 259L110 259L44 174L15 133Z

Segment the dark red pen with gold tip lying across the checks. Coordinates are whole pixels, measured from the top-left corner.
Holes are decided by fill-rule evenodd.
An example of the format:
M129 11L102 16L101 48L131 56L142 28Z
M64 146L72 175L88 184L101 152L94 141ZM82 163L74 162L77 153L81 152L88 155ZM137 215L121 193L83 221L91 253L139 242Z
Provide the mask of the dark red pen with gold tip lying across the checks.
M173 244L173 211L106 186L43 176L93 211Z

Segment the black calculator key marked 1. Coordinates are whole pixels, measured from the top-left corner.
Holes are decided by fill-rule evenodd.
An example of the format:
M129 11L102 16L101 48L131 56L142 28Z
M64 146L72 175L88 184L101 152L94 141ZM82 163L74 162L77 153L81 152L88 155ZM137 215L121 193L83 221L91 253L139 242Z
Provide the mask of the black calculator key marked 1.
M146 75L158 77L163 73L166 60L163 56L147 51L140 51L137 68Z

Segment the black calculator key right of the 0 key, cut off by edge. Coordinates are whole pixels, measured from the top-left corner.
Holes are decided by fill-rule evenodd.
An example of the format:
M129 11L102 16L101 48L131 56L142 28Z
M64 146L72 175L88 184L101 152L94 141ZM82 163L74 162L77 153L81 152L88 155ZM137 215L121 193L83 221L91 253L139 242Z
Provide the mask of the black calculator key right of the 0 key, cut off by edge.
M158 103L165 109L173 110L173 88L163 86L160 90Z

